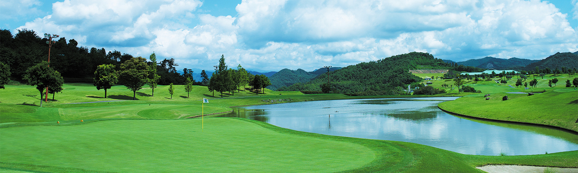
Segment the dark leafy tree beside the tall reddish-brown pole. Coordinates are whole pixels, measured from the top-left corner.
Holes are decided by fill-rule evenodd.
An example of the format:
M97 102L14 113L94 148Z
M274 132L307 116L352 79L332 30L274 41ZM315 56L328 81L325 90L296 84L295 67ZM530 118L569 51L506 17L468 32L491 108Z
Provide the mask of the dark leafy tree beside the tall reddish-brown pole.
M42 61L29 67L24 74L24 80L27 81L27 84L36 85L36 89L40 92L40 107L42 107L42 92L49 86L56 88L56 85L59 85L58 81L62 81L60 73L49 67L48 64L48 62Z

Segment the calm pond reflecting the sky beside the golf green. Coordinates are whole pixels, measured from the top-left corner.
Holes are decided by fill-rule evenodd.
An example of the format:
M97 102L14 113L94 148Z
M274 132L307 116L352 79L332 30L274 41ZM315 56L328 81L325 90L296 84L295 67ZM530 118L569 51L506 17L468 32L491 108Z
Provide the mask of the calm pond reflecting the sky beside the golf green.
M332 136L405 141L469 155L578 150L578 136L547 127L479 121L439 110L457 97L324 100L235 107L223 116Z

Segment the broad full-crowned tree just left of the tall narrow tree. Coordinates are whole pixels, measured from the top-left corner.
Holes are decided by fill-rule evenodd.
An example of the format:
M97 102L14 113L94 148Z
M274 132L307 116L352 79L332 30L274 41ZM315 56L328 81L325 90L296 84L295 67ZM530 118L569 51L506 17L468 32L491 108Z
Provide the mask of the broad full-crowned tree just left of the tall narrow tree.
M121 63L120 78L124 81L124 86L132 91L132 100L136 100L136 91L149 82L149 74L149 66L142 57L133 57Z

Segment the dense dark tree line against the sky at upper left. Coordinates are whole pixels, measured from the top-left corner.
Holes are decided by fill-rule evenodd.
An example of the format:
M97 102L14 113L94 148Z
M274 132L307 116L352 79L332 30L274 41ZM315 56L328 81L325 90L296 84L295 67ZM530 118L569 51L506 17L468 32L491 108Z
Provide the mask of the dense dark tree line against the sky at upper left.
M47 61L49 48L48 39L41 38L35 31L19 29L16 35L12 35L8 29L0 29L0 62L10 69L9 80L25 83L24 74L29 67L42 61ZM79 46L75 39L66 40L60 37L52 45L50 50L50 66L60 72L67 82L91 82L94 72L100 65L112 64L115 70L120 70L121 64L134 58L131 54L117 50L106 51L105 48L88 48ZM175 59L163 59L157 63L156 59L147 64L155 64L154 70L158 75L158 84L177 85L186 84L186 78L190 77L195 85L208 85L206 78L192 79L192 70L183 69L183 74L177 73Z

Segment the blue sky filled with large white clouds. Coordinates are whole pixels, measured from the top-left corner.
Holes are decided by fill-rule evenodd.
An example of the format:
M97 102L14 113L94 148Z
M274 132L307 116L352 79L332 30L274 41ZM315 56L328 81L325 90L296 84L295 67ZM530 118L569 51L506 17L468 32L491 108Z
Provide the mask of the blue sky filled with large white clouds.
M177 69L344 67L408 52L465 61L578 51L578 0L7 0L0 28L32 29ZM199 73L199 72L195 72Z

